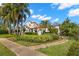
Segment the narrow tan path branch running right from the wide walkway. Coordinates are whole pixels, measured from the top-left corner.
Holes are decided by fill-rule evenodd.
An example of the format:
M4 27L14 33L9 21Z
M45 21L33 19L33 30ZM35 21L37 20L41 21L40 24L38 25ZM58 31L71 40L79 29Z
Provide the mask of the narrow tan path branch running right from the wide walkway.
M36 46L29 46L29 48L32 48L33 50L36 50L36 49L40 49L40 48L46 48L46 47L49 47L49 46L63 44L67 41L68 41L67 39L61 39L61 40L53 41L51 43L45 43L45 44L36 45Z

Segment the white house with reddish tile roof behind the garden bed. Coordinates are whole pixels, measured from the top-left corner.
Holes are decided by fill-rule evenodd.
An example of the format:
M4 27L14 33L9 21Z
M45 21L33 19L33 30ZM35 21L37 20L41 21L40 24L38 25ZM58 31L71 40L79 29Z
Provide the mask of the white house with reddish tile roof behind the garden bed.
M45 28L45 27L37 24L36 22L28 22L25 25L25 29L26 29L25 32L36 32L39 35L41 35L44 31L49 32L48 28Z

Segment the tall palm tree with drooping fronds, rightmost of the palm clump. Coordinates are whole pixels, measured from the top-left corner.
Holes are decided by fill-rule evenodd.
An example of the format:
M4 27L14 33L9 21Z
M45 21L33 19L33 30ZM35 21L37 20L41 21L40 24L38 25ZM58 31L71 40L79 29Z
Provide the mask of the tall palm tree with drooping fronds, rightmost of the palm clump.
M20 33L22 34L23 32L23 29L22 29L22 26L23 26L23 22L26 20L27 18L27 14L30 15L30 11L28 9L28 4L24 4L24 3L21 3L21 4L14 4L15 8L14 8L14 18L16 20L16 26L17 26L17 34L19 33L18 32L18 28L19 28L19 25L21 26L21 31Z

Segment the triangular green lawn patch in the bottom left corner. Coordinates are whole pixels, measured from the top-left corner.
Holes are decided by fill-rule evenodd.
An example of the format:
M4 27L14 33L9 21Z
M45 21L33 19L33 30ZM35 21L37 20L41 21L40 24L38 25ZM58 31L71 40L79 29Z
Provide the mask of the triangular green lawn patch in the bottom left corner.
M0 43L0 56L15 56L15 54Z

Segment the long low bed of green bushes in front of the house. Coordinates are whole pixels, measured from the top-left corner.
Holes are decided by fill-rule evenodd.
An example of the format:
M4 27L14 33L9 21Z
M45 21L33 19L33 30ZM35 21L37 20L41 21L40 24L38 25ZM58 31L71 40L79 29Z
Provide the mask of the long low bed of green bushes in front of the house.
M18 41L27 41L27 42L36 42L36 43L44 43L51 42L54 40L58 40L59 36L56 34L44 34L44 35L23 35L16 37Z

